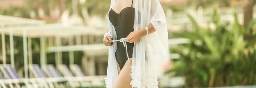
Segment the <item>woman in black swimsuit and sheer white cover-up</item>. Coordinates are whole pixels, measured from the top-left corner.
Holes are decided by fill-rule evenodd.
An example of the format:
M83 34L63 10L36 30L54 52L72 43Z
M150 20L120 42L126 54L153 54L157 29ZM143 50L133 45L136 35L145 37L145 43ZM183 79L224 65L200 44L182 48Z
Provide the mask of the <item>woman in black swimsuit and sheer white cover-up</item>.
M158 0L111 0L107 88L158 88L159 62L168 59L166 18Z

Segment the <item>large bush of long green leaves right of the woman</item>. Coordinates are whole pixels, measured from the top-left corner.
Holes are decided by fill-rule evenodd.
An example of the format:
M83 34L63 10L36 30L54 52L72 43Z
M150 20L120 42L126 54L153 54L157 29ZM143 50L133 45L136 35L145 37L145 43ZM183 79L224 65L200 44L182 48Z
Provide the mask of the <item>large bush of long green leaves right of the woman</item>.
M191 40L173 49L181 58L169 71L185 78L186 87L216 87L256 84L256 33L244 40L250 28L243 28L237 14L233 22L221 22L214 11L209 25L202 27L188 15L194 31L174 34ZM256 24L253 19L249 25Z

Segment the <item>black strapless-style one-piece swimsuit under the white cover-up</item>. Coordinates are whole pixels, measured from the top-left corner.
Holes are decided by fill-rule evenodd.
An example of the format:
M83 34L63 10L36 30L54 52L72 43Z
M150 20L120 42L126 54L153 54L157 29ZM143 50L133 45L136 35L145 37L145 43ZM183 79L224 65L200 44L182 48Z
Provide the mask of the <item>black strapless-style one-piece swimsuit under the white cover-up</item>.
M132 6L125 7L120 11L120 14L113 11L113 9L109 11L109 20L115 27L118 40L120 40L120 38L127 37L129 33L133 32L134 11L135 9ZM127 51L128 57L132 58L133 43L127 42ZM127 60L127 55L125 47L121 42L117 42L117 51L115 52L115 56L120 69L122 69Z

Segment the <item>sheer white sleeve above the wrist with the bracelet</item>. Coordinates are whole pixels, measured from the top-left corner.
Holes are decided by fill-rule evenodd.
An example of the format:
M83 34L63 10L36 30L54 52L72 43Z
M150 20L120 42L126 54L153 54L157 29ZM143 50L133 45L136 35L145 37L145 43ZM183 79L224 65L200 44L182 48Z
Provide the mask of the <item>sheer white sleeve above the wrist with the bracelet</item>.
M161 53L163 59L168 59L168 30L165 13L158 0L151 0L151 24L156 30L148 35L147 42L156 53Z

